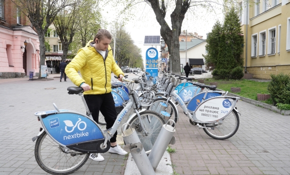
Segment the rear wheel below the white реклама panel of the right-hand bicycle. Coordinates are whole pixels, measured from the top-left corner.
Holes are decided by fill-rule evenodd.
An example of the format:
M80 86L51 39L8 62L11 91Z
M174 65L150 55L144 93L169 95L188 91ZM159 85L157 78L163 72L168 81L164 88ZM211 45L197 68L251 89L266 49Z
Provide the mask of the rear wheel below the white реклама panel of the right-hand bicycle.
M233 124L231 124L233 123ZM238 129L239 117L235 110L232 110L224 119L221 124L202 124L202 126L213 127L214 129L203 128L204 132L214 139L227 139L230 138Z

